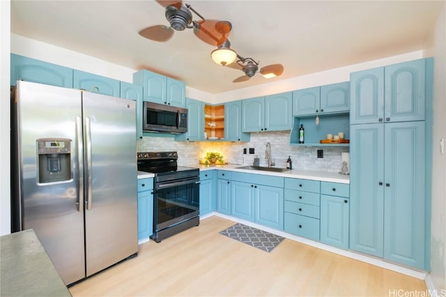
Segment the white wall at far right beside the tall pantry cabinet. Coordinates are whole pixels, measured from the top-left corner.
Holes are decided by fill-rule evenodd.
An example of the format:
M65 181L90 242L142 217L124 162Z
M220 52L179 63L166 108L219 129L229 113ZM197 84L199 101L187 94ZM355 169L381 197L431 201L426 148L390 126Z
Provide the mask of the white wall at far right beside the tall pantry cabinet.
M446 4L433 32L433 144L431 273L435 289L446 289L446 152L440 152L440 139L446 141ZM445 143L446 146L446 143ZM446 150L446 147L445 147ZM443 295L442 295L443 296Z

